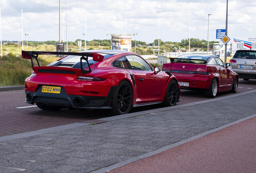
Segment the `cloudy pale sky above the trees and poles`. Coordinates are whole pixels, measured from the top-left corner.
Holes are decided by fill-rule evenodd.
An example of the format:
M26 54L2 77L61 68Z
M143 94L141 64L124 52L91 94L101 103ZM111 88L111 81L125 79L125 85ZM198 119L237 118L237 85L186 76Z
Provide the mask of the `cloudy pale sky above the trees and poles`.
M110 39L108 33L124 34L124 4L125 32L138 33L136 40L153 42L158 39L158 22L163 41L180 42L189 38L189 29L191 38L207 40L208 14L212 14L209 16L209 41L219 41L216 30L225 29L226 0L61 0L64 41L66 10L69 41L85 39L85 21L89 41ZM24 40L59 40L59 0L0 0L0 6L2 40L22 40L21 8ZM255 0L229 0L228 36L231 40L256 37L255 21ZM25 36L26 33L29 36Z

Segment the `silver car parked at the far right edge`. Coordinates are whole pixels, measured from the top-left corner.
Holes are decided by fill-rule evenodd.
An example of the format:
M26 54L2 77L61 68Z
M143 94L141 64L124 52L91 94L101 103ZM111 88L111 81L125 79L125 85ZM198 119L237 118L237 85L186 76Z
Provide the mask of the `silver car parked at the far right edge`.
M237 50L231 60L229 69L244 80L256 79L256 50Z

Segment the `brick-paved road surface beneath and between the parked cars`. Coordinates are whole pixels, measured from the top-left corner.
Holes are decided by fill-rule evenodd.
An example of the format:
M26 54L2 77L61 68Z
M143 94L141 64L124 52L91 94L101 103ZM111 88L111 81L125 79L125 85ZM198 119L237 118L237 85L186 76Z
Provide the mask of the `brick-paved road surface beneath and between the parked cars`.
M252 91L256 89L256 80L245 81L240 79L237 93ZM216 98L233 95L233 93L218 93ZM204 97L200 91L182 90L180 102L177 105L204 101L209 98ZM68 110L43 111L36 106L24 102L25 91L2 91L0 92L0 137L57 127L71 123L102 123L98 119L107 117L102 110ZM161 105L150 105L136 107L131 113L161 108Z

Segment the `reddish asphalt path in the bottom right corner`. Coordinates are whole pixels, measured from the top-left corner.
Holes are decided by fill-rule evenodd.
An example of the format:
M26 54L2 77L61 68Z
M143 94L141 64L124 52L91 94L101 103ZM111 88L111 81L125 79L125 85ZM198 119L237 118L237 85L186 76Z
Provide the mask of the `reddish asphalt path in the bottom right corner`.
M256 117L107 173L255 173Z

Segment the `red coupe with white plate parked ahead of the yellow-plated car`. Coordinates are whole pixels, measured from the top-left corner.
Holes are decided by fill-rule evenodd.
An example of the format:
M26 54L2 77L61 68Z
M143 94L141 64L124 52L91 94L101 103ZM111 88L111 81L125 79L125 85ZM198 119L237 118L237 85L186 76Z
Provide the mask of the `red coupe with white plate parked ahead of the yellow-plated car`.
M204 89L204 95L211 98L219 92L237 91L238 74L227 69L230 64L225 65L217 56L184 54L170 59L163 64L163 71L178 78L181 89Z

